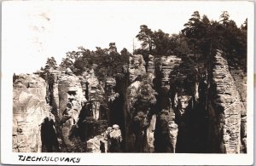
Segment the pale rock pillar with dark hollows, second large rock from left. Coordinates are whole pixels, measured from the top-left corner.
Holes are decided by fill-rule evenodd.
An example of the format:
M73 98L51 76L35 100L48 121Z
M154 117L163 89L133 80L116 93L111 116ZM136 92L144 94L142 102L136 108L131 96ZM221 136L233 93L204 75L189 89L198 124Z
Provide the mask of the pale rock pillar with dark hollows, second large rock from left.
M61 74L58 83L61 137L67 149L73 146L73 142L69 137L72 135L72 130L76 128L79 120L79 112L82 108L81 102L83 99L82 92L79 77L76 77L67 68L66 73Z

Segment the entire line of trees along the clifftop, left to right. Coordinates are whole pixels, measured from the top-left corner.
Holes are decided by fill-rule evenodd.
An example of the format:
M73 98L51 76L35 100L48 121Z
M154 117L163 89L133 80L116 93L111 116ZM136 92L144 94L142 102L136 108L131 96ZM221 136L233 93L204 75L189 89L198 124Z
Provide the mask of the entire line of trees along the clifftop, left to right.
M227 54L228 60L238 63L246 69L247 61L247 20L236 26L230 15L224 11L219 20L209 20L207 15L195 11L183 30L178 34L168 34L162 30L152 31L148 26L140 26L137 39L141 48L135 49L133 54L143 54L148 62L148 55L162 56L176 54L186 57L188 54L202 54L202 60L208 60L212 50L221 49ZM114 77L129 63L131 53L127 49L117 51L115 43L109 43L108 49L96 47L96 50L79 47L78 51L67 52L61 61L61 68L69 67L79 75L87 69L93 68L99 79ZM47 60L44 71L50 67L56 68L54 57Z

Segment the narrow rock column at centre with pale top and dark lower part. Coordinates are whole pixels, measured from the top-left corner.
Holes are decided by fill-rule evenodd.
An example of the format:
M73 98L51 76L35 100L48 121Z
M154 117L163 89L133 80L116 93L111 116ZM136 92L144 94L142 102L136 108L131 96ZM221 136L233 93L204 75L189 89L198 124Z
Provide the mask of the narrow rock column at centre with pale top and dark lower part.
M145 141L143 140L144 129L143 121L146 117L146 114L141 112L140 115L137 116L137 112L134 108L134 103L137 99L135 96L137 95L137 90L141 86L142 77L146 73L145 61L143 60L143 55L136 54L130 57L129 62L129 86L127 87L127 107L125 108L125 128L126 128L126 149L129 152L143 152L143 146L145 145ZM137 127L134 129L133 123Z

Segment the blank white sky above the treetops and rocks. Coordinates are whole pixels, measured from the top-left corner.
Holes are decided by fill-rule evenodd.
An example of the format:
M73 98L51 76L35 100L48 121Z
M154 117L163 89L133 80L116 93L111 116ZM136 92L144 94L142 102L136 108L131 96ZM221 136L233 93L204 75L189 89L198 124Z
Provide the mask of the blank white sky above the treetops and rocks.
M79 46L108 48L114 42L118 51L126 48L132 52L133 39L141 25L153 31L178 33L196 10L209 20L218 20L226 10L230 19L241 26L248 16L247 6L247 2L216 1L4 2L3 69L36 72L47 57L54 56L60 64L67 51Z

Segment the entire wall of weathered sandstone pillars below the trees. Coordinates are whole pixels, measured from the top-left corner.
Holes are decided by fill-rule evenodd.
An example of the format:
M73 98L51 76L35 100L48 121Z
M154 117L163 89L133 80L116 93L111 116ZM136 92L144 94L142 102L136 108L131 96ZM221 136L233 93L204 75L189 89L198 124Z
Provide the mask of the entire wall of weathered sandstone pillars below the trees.
M18 76L13 151L247 152L246 75L221 51L207 70L156 57L131 55L104 81L93 69Z

